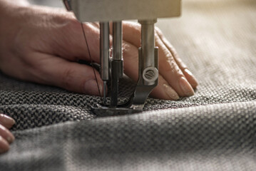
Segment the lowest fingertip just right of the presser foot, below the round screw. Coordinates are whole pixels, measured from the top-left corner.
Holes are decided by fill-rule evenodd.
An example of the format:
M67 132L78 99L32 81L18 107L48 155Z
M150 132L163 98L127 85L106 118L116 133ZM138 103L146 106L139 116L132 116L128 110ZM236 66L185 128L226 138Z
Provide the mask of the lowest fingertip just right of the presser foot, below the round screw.
M153 89L150 96L163 100L178 100L180 98L178 93L170 87L163 76L158 77L158 86Z

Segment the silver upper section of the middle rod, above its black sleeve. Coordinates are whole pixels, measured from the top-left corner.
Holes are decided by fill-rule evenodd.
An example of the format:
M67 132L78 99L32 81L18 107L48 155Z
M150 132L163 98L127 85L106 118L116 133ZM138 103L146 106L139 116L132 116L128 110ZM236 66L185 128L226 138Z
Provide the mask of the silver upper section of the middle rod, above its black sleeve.
M122 21L113 22L113 60L122 60Z

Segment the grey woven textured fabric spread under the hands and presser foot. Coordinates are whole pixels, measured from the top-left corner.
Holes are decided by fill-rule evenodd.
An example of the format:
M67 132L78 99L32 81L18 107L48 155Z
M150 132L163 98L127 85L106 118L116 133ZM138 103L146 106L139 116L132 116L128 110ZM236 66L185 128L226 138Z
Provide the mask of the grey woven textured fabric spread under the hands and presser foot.
M253 0L187 0L181 18L158 20L200 86L134 115L97 118L98 97L1 74L16 140L0 170L256 170L255 19ZM134 83L121 85L124 100Z

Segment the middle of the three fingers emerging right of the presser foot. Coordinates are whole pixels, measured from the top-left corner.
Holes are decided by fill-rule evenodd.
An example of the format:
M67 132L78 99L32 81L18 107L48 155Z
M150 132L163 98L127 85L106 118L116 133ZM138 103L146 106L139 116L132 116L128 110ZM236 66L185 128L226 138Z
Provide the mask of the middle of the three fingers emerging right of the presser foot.
M158 45L159 51L159 72L168 81L169 85L180 96L190 96L194 94L193 88L188 83L183 72L175 62L172 54L166 48L165 44L156 36L156 44Z

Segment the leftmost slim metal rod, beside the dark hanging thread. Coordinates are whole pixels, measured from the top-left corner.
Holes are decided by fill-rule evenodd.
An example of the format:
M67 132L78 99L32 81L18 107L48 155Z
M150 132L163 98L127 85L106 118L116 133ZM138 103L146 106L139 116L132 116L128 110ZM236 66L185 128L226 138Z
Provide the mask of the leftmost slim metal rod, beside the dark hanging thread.
M109 23L100 23L101 79L109 79Z

